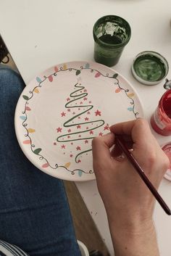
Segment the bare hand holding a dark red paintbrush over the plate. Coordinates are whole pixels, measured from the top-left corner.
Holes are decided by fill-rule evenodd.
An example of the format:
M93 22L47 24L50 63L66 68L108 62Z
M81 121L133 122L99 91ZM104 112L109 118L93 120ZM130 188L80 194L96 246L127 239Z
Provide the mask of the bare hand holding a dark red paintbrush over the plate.
M152 135L146 120L117 123L111 133L93 139L93 170L109 219L115 230L145 228L152 222L154 196L138 176L127 157L117 158L114 133L129 138L133 156L158 189L169 160ZM132 143L131 143L132 141Z

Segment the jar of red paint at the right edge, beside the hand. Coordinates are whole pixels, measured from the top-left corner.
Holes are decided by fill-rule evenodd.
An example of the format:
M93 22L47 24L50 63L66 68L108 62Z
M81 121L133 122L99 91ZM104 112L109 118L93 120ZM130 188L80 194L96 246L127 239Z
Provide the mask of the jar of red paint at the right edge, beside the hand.
M161 135L171 135L171 89L159 100L157 110L151 116L151 126Z

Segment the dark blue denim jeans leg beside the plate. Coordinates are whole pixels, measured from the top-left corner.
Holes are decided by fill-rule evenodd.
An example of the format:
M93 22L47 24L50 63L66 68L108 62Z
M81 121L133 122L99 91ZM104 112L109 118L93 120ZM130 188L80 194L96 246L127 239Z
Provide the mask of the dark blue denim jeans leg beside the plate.
M33 166L14 132L25 84L0 67L0 239L29 255L80 256L63 182Z

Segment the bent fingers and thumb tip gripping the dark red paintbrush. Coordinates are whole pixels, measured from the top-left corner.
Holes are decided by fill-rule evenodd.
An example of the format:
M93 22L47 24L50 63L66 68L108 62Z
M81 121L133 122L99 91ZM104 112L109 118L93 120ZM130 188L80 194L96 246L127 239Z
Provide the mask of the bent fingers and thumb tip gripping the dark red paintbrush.
M120 155L121 150L118 146L115 146L114 149L112 149L112 152L109 151L114 145L114 133L122 134L124 136L129 149L133 148L132 145L134 143L134 147L138 148L138 152L139 150L145 150L147 139L151 142L150 137L152 138L149 124L143 118L138 118L137 120L131 120L125 123L117 123L110 127L110 131L112 131L112 133L93 139L93 158L99 158L100 160L101 157L104 159L104 157L117 157Z

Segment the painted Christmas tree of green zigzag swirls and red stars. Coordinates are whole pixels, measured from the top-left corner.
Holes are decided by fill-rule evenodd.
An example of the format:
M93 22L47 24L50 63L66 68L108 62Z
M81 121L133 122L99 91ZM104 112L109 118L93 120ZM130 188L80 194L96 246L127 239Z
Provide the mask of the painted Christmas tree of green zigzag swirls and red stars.
M79 81L79 79L78 79ZM74 91L66 99L60 113L63 125L57 127L57 142L62 153L76 163L82 162L91 149L95 136L102 136L109 125L101 119L101 110L88 99L88 91L81 83L76 83Z

